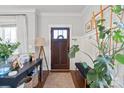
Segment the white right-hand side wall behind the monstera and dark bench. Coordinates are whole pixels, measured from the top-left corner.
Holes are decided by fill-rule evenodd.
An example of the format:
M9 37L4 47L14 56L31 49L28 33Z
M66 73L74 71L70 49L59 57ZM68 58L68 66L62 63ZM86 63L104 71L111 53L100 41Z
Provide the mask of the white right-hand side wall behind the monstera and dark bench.
M94 40L95 33L94 31L86 33L85 24L92 18L93 11L97 13L98 10L99 10L99 6L93 6L93 5L85 6L85 8L81 13L82 20L80 20L82 34L78 35L77 37L73 37L77 39L76 43L79 45L80 49L86 52L87 54L89 54L93 59L95 59L97 55L97 49L92 45L92 43L96 44ZM74 42L72 42L72 44L73 43ZM72 63L71 69L75 69L75 62L86 62L90 67L93 68L93 62L89 59L88 56L86 56L81 52L77 53L76 58L71 59L71 63Z

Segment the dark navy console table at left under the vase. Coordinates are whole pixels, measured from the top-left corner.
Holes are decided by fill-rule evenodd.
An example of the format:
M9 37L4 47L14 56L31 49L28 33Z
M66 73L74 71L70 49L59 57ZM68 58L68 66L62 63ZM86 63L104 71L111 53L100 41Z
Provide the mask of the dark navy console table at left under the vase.
M28 62L24 64L24 67L18 70L18 73L14 76L0 77L0 86L9 86L16 88L19 82L30 74L36 66L40 67L39 70L39 82L42 81L42 59L36 59L35 62Z

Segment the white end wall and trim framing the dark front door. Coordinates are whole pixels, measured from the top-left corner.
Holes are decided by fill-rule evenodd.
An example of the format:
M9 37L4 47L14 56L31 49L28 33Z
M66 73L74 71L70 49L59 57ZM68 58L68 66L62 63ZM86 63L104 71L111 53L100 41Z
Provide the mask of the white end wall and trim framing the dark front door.
M46 56L51 68L51 26L65 26L70 27L71 38L74 36L81 36L82 31L82 17L79 14L41 14L38 15L38 32L37 36L42 36L46 39ZM71 46L71 45L70 45ZM70 65L72 65L70 63ZM72 66L70 66L72 68Z

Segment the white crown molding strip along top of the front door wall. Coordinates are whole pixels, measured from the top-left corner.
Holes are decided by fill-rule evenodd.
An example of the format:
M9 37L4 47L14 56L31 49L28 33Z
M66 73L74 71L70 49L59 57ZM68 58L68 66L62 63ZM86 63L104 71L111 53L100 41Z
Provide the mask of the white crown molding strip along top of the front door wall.
M40 13L41 16L81 16L81 13Z

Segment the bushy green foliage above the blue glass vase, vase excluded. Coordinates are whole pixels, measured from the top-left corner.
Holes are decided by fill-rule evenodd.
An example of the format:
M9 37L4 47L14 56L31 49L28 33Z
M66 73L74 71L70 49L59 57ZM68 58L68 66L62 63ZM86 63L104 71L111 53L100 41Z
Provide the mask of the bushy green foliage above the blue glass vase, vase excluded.
M11 43L10 41L4 41L0 38L0 63L5 62L19 45L19 42Z

